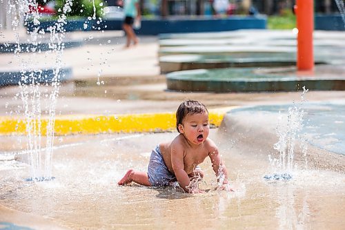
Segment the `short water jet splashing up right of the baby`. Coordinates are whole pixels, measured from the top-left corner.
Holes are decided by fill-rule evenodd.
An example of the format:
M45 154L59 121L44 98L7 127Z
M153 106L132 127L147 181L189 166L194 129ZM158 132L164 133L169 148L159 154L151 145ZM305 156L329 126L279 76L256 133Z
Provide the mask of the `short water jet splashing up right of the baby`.
M301 95L301 103L288 108L288 115L284 117L279 111L278 124L277 124L277 136L279 141L274 144L273 148L279 152L279 158L272 158L268 155L270 166L278 173L272 175L265 175L267 180L290 180L293 175L293 171L296 169L294 164L295 157L295 144L297 140L300 140L300 148L302 149L302 155L305 161L305 167L308 166L306 160L307 143L302 133L303 128L303 104L305 102L304 95L308 92L305 86L303 86L303 93ZM284 119L286 118L286 119Z

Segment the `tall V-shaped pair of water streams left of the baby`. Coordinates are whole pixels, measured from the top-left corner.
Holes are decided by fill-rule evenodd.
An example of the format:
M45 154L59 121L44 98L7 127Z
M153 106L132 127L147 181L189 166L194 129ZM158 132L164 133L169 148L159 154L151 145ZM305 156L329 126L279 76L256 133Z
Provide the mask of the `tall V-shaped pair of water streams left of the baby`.
M31 180L51 180L52 179L52 147L54 140L54 125L55 125L55 106L57 103L57 97L59 95L59 86L61 79L61 66L62 66L62 54L63 54L63 38L64 38L64 26L66 25L66 13L71 11L72 0L67 0L63 6L62 14L59 16L57 23L51 26L48 31L50 32L50 42L47 52L56 55L54 60L55 69L53 70L53 76L46 76L43 74L43 70L37 69L39 64L34 63L37 52L39 50L39 44L45 30L40 28L40 14L38 11L36 0L14 0L9 3L9 14L12 14L12 28L16 39L16 49L14 54L17 57L17 61L21 64L21 80L18 82L20 93L19 97L23 102L23 113L26 121L26 132L28 135L28 160L30 163ZM61 9L60 9L61 10ZM21 59L21 47L19 40L19 32L17 29L21 25L22 21L25 25L28 25L29 21L32 21L33 27L31 30L27 30L30 41L29 61ZM47 79L50 77L50 80ZM48 97L48 113L47 124L42 124L41 121L41 98L42 98L42 82L44 85L51 86L52 90L46 95ZM41 148L41 133L46 125L46 150L45 154L42 153ZM44 161L44 162L43 162Z

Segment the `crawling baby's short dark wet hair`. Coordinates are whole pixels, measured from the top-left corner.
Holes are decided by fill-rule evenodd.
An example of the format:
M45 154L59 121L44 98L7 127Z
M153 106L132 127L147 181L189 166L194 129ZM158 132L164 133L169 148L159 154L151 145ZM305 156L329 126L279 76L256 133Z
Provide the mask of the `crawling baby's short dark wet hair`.
M204 104L198 101L187 100L182 102L176 111L176 128L179 131L179 124L182 124L186 115L193 115L196 113L208 113L208 110Z

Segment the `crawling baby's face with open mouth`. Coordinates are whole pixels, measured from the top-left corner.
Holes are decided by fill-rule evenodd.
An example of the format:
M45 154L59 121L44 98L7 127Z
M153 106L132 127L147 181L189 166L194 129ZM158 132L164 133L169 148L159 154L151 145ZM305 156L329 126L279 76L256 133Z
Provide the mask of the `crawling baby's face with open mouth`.
M196 113L184 117L182 123L182 132L190 144L201 144L210 133L210 124L208 122L208 113Z

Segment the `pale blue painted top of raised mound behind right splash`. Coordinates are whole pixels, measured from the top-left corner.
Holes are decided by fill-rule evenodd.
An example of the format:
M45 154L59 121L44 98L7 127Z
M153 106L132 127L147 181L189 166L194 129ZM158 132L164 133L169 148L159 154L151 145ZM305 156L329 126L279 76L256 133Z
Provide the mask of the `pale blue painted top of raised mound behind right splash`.
M345 102L306 102L296 104L282 104L273 106L253 106L237 108L231 114L243 112L252 113L280 113L284 116L288 108L297 106L303 109L303 127L300 134L313 146L326 149L333 153L345 155Z

